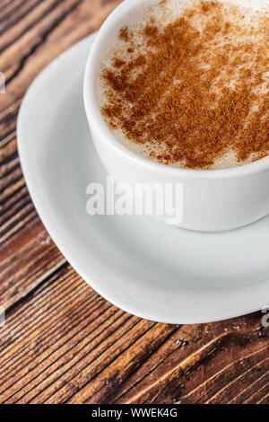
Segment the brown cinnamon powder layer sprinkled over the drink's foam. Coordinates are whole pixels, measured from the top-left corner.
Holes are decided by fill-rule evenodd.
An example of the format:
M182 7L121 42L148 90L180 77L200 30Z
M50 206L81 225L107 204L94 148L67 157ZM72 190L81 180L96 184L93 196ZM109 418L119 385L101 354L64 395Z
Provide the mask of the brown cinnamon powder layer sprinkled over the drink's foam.
M247 21L246 13L199 2L173 22L154 13L142 28L123 28L101 73L108 126L153 160L180 167L230 167L268 154L269 17Z

